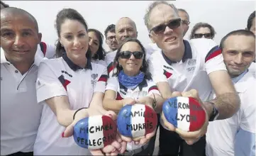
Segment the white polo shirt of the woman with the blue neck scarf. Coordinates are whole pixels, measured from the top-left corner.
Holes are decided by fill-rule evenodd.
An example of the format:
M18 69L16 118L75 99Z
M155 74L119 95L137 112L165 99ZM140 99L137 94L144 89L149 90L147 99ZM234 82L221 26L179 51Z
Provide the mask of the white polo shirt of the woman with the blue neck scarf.
M118 77L109 77L106 85L106 90L112 90L116 92L116 100L122 100L126 98L139 99L140 97L150 96L151 94L159 94L152 80L144 79L138 87L135 89L127 89L118 81ZM135 150L141 147L141 145L135 145L134 142L127 143L126 150Z

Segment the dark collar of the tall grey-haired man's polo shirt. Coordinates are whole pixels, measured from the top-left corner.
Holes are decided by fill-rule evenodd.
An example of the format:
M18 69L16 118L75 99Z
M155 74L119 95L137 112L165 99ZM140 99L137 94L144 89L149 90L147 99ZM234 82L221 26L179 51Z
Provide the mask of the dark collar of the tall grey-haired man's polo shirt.
M185 46L185 52L182 57L182 62L185 62L188 59L192 58L192 50L189 42L187 40L183 40L184 46ZM162 52L162 56L164 57L165 61L169 64L172 65L172 63L177 63L176 61L169 60L167 56L165 56L165 53Z

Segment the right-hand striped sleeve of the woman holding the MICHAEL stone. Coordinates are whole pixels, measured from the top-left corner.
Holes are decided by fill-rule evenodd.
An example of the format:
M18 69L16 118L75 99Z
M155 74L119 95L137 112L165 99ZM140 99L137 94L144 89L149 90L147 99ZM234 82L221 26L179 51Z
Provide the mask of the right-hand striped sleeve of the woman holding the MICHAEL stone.
M106 67L104 67L103 65L98 65L99 66L99 75L101 75L99 77L99 79L96 82L96 85L94 87L94 92L102 92L105 93L105 88L106 88L106 81L108 79L108 73L106 71Z

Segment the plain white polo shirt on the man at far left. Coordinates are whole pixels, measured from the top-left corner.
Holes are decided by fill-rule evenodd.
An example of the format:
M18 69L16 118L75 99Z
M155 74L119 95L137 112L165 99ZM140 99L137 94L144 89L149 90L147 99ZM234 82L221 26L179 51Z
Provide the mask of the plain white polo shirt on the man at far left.
M35 55L28 72L21 74L1 48L1 155L33 151L43 109L35 94L42 59Z

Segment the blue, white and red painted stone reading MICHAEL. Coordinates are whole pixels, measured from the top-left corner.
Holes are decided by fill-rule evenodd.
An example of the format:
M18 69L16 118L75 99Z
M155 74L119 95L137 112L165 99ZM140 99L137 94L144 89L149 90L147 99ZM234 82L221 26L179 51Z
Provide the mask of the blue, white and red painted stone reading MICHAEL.
M80 147L101 149L116 139L116 123L108 116L90 116L74 126L74 141Z

